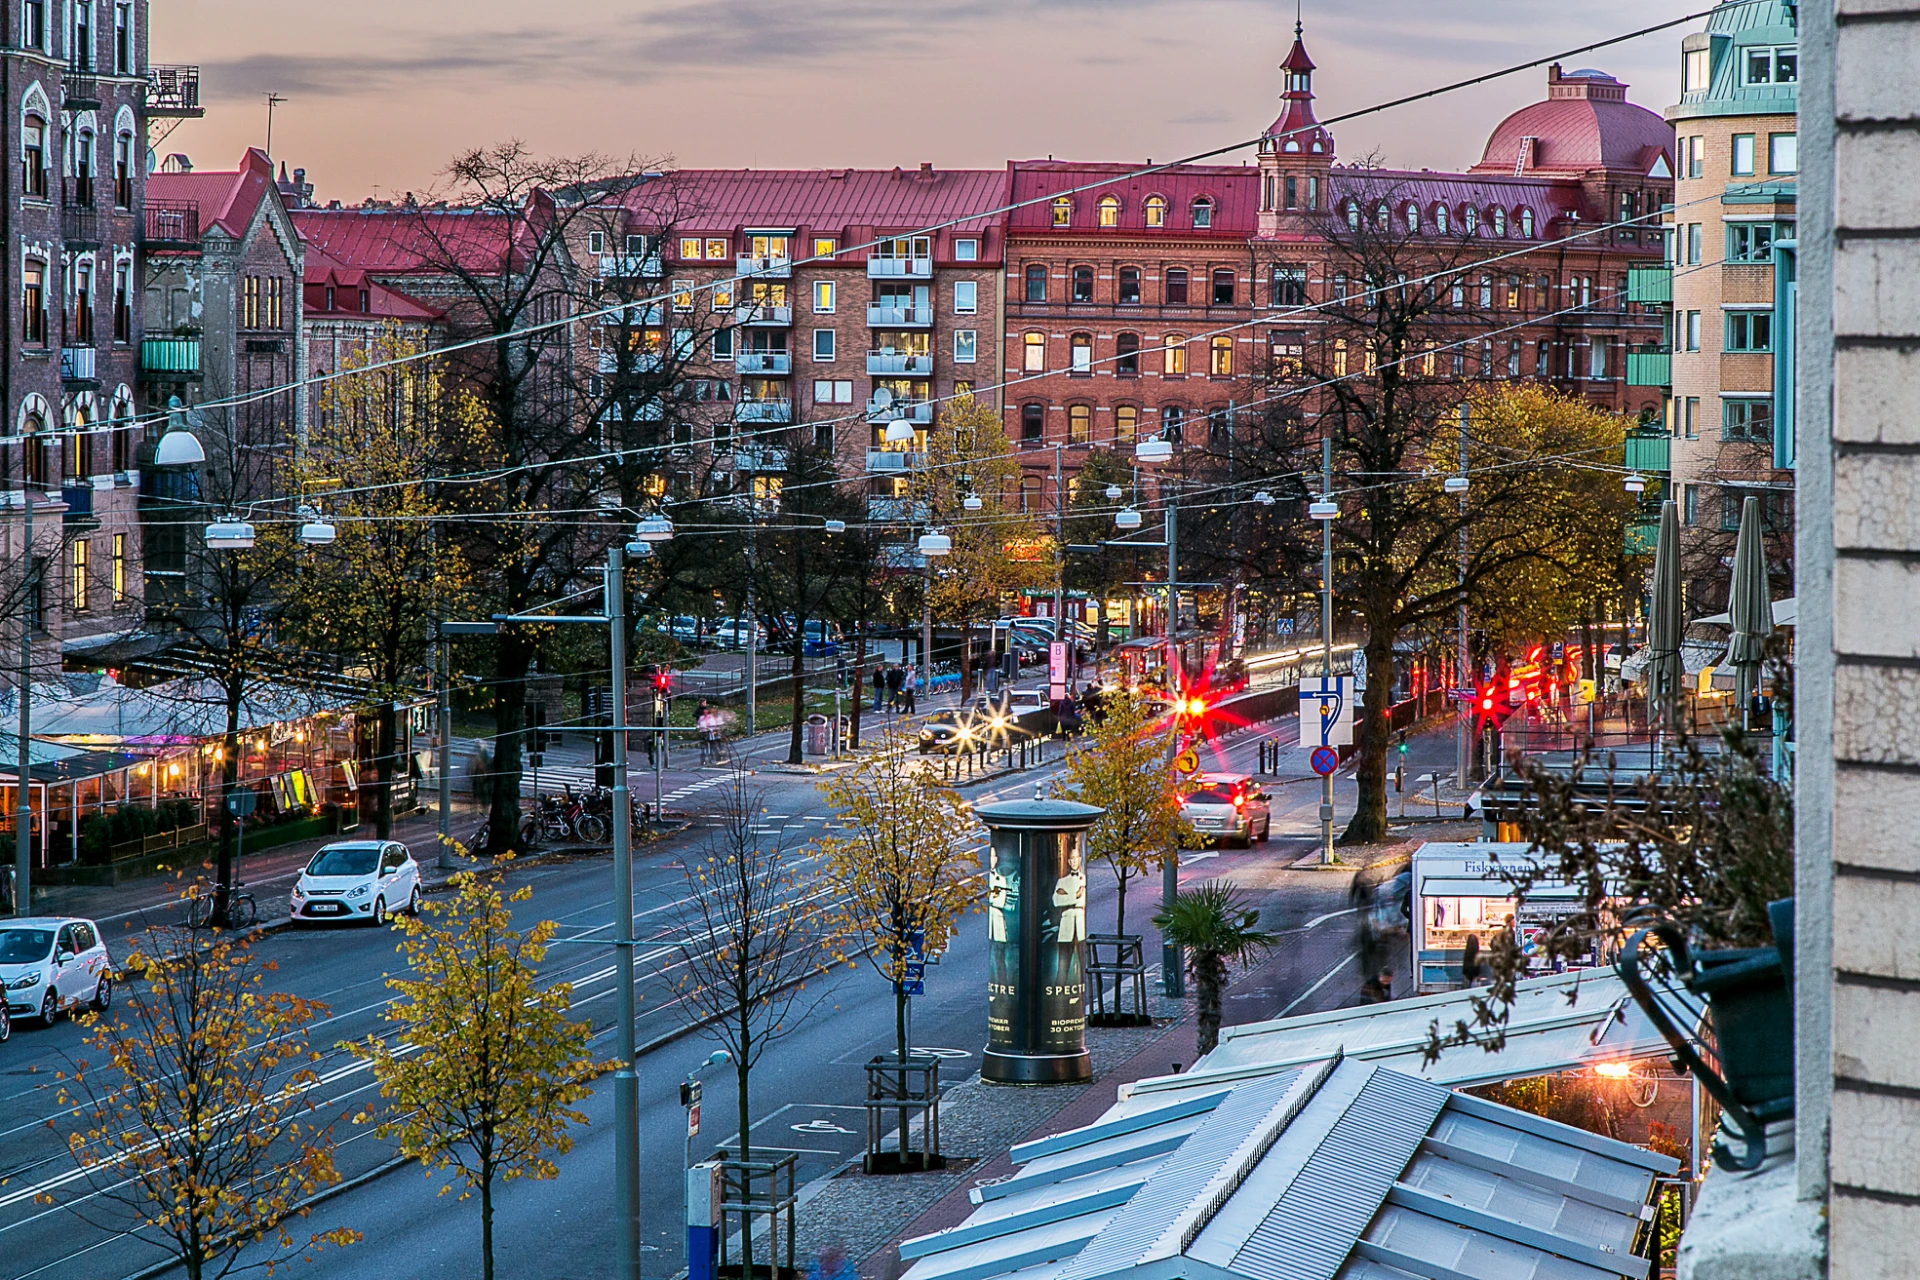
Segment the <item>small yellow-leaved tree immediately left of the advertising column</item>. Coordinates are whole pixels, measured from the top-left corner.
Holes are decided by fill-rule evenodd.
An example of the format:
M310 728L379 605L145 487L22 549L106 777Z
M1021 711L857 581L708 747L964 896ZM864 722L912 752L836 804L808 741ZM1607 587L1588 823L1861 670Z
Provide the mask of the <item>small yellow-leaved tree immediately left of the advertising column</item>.
M831 887L828 929L893 983L895 1048L904 1063L906 965L945 950L981 898L968 835L973 818L960 793L922 768L902 733L826 777L820 791L839 814L837 831L814 841Z

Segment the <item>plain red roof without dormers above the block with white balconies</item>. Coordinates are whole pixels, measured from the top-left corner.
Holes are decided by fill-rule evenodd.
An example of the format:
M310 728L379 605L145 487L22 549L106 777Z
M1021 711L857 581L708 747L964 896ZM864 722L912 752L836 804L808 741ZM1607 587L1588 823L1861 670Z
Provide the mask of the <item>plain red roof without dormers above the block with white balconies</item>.
M954 236L981 240L979 261L998 261L1004 203L1006 173L931 167L676 169L626 196L636 226L689 236L791 228L803 242L862 244L954 223L935 236L933 255L943 261L952 261Z

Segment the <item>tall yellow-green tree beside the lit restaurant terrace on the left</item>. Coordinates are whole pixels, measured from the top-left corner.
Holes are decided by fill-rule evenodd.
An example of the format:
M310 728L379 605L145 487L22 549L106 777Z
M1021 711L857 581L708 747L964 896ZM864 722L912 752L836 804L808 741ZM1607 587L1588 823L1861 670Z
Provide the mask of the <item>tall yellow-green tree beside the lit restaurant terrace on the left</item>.
M453 505L436 474L449 451L478 457L478 409L468 390L415 359L424 349L397 328L359 347L321 390L294 468L296 491L332 522L334 541L300 555L286 633L359 679L359 712L374 725L382 841L394 829L397 708L424 683L434 620L459 612L472 591L463 545L444 524ZM284 526L288 541L294 528Z

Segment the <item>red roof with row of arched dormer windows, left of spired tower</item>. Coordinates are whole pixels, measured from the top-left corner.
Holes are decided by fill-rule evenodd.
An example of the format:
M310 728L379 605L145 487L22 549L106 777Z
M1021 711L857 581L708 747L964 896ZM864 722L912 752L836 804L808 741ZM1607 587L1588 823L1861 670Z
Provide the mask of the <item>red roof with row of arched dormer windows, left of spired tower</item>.
M1021 203L1008 215L1010 230L1016 232L1064 232L1064 234L1102 234L1125 236L1150 232L1154 236L1196 236L1231 240L1250 236L1260 226L1260 171L1252 165L1177 165L1144 177L1127 177L1144 165L1117 163L1079 163L1064 159L1016 159L1008 165L1014 175L1014 201ZM1110 177L1110 182L1100 182ZM1073 223L1054 226L1050 198L1056 192L1089 186L1073 200ZM1094 225L1100 198L1114 194L1119 198L1119 226L1102 228ZM1164 196L1167 201L1167 225L1146 226L1146 198ZM1213 201L1213 225L1196 230L1192 226L1192 203L1206 196ZM1033 201L1033 203L1025 203Z

